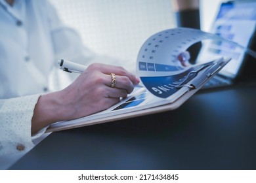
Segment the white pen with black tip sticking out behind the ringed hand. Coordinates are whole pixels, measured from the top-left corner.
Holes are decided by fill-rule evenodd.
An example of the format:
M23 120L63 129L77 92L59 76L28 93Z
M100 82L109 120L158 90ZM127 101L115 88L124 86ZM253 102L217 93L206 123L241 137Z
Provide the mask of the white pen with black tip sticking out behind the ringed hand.
M66 71L68 73L83 73L85 69L87 69L87 66L81 65L79 63L74 63L72 61L68 61L66 59L59 59L58 64L60 65L60 69L63 71Z

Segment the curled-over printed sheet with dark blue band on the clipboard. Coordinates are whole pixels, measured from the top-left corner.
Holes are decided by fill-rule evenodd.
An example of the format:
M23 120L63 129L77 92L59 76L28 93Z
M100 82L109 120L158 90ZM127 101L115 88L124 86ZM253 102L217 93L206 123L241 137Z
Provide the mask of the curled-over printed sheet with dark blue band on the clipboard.
M142 84L158 97L167 98L177 92L175 86L179 85L182 80L175 80L175 78L184 78L187 73L198 69L186 67L182 64L181 59L178 59L179 56L186 52L192 44L207 39L226 42L228 45L240 48L243 52L256 58L256 52L253 50L219 35L191 28L167 29L152 35L140 48L137 57L137 75L139 75ZM232 58L232 56L230 57ZM163 90L169 91L165 92L164 96L158 95L155 86L165 86Z

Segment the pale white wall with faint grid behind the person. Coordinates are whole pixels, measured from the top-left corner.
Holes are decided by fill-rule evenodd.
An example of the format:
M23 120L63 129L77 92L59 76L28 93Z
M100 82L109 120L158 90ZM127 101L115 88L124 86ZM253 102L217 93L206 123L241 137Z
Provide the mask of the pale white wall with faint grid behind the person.
M62 20L100 54L136 61L150 35L175 27L169 0L51 0Z

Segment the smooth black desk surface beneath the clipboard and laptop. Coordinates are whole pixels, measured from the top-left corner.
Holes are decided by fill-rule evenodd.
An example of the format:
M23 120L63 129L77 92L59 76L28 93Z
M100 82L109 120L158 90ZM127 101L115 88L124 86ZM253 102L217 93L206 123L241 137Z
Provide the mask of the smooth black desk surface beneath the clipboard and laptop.
M52 133L11 169L256 169L256 86L177 110Z

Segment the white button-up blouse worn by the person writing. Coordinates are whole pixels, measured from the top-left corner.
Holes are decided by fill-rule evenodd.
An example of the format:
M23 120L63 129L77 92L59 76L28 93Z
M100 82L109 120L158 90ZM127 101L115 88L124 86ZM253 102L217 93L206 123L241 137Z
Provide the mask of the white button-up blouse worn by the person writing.
M86 65L102 60L83 46L77 32L62 24L48 1L16 0L10 6L0 0L0 27L1 164L4 155L33 148L33 108L38 93L51 92L49 75L57 60Z

